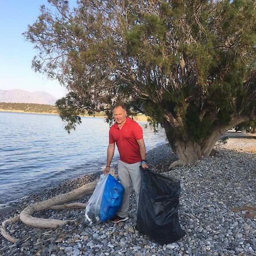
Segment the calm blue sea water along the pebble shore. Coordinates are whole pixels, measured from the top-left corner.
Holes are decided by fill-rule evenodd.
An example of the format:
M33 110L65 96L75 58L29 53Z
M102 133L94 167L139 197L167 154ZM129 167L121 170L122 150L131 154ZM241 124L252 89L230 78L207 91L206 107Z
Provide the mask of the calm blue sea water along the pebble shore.
M139 124L147 150L166 142L163 130L155 134ZM68 134L57 115L0 112L0 130L0 204L101 171L106 162L109 125L103 118L84 117Z

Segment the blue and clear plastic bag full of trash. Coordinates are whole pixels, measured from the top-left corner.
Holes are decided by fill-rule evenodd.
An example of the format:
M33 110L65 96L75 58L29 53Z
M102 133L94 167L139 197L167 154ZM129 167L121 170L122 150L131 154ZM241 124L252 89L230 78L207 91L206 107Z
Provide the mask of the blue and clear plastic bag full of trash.
M124 191L112 175L102 174L86 205L85 224L99 224L112 218L122 205Z

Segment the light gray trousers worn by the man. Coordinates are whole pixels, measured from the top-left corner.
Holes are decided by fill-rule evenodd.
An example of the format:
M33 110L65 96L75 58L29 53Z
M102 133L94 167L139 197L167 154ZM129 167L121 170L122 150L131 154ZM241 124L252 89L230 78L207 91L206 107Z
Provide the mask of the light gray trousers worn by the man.
M139 162L134 164L127 164L121 160L118 161L118 177L121 181L121 184L125 188L122 206L117 213L119 217L125 218L128 215L131 185L133 185L133 189L135 191L138 207L139 190L141 189L141 170L139 169L139 165Z

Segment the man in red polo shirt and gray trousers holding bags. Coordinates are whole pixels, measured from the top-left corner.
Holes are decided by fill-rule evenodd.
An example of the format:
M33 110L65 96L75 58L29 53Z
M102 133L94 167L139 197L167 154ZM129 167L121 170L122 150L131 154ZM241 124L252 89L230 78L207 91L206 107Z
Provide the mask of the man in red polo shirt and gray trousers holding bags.
M122 104L114 106L113 115L115 123L109 129L107 164L104 172L107 174L110 171L115 144L117 144L120 155L118 161L118 177L125 188L122 206L117 215L112 218L112 222L118 223L129 219L128 209L131 183L133 184L136 194L138 207L139 190L141 188L141 170L139 169L139 166L141 165L144 169L148 168L148 166L141 126L133 121L133 119L127 117L126 108Z

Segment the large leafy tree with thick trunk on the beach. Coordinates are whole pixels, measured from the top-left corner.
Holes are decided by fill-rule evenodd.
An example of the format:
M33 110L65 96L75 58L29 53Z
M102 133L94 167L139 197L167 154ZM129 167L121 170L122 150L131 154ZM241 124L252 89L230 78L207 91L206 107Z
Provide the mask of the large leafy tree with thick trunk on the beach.
M162 125L186 164L255 119L254 0L49 3L24 35L39 50L35 71L69 90L57 101L68 130L122 101Z

